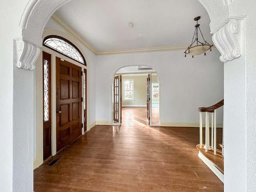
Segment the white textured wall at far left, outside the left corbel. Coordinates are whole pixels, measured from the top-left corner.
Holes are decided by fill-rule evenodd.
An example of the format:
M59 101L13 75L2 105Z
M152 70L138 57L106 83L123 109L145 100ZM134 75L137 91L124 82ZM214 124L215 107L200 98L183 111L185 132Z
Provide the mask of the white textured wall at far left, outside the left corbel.
M28 143L32 142L33 139L32 136L30 137L30 134L33 135L33 132L30 132L33 122L26 122L29 117L26 114L26 110L33 111L33 108L31 108L31 105L26 110L22 108L27 101L30 104L33 103L33 92L28 88L31 84L27 82L27 78L30 78L33 72L26 73L23 71L20 76L17 74L15 52L13 51L13 38L20 36L19 22L26 6L26 1L1 1L0 4L1 26L4 27L4 30L0 32L0 39L3 45L0 47L0 70L2 72L0 75L0 164L2 165L0 167L0 191L18 191L18 185L20 185L20 191L24 191L23 189L26 187L32 191L30 187L32 182L31 174L33 173L31 169L32 155L30 155L32 151L24 151L27 150L26 148L19 151L19 146L15 145L17 142L28 146ZM15 13L12 10L15 10ZM17 86L14 87L14 84L18 82L20 82L21 86L19 88ZM23 90L26 83L28 84L25 85ZM13 91L14 89L18 89L18 92L21 90L23 92L18 95L18 92ZM25 91L30 92L26 94ZM17 103L19 104L14 106ZM25 133L19 136L20 132ZM22 138L23 136L24 138ZM26 156L26 154L29 155ZM25 174L22 175L25 170L28 170L26 171L28 178L26 178Z

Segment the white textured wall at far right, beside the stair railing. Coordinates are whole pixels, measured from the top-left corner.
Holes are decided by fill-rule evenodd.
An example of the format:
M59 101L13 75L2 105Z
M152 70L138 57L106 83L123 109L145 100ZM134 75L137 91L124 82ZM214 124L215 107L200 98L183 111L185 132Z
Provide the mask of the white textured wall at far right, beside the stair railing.
M242 54L224 64L224 191L256 190L256 2L236 1L231 16L246 15L238 21ZM230 166L232 165L232 166Z

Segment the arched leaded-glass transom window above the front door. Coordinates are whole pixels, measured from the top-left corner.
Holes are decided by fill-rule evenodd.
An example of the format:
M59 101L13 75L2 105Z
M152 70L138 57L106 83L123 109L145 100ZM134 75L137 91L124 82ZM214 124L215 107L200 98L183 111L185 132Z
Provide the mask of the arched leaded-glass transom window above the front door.
M77 62L86 65L84 56L82 55L80 50L65 38L55 35L47 36L46 38L44 38L43 45Z

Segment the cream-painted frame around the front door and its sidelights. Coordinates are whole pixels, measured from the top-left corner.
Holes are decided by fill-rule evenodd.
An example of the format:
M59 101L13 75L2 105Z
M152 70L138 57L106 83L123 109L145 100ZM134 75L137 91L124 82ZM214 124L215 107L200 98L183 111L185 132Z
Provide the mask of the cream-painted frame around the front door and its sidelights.
M51 68L51 75L52 75L52 156L56 154L57 148L56 148L56 57L63 58L64 60L76 65L80 66L82 70L86 69L87 71L87 92L86 92L86 99L87 104L86 107L89 109L89 69L88 69L88 62L87 66L84 66L83 64L80 64L58 52L55 52L54 50L51 50L45 46L42 46L39 59L36 61L36 66L42 66L42 52L46 52L51 54L51 60L52 60L52 68ZM86 57L85 57L86 58ZM43 163L43 116L42 116L42 110L43 110L43 101L42 101L42 67L36 67L36 104L35 104L35 110L36 110L36 157L34 158L34 168L39 167ZM84 74L83 74L84 75ZM82 77L83 79L83 77ZM82 86L82 92L84 90L83 83ZM83 109L84 102L82 102L82 109ZM86 114L87 119L87 130L90 130L90 111L87 110ZM84 120L84 111L82 110L82 123ZM81 130L82 134L86 132L84 128Z

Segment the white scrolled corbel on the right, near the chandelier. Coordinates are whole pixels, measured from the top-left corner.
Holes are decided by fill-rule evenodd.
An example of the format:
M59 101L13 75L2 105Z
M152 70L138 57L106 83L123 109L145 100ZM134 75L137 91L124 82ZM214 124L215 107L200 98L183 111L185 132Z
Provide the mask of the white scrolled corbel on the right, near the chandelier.
M239 33L239 24L236 19L229 19L218 31L212 40L221 53L220 60L226 62L241 56L241 49L234 34Z

